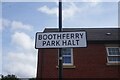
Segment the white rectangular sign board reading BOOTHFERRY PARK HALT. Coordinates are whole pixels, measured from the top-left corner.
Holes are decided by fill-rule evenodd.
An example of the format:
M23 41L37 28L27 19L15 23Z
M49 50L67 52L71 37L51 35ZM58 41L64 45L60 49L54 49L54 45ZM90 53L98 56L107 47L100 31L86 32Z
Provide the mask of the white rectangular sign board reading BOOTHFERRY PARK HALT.
M36 49L65 47L87 47L86 32L36 33Z

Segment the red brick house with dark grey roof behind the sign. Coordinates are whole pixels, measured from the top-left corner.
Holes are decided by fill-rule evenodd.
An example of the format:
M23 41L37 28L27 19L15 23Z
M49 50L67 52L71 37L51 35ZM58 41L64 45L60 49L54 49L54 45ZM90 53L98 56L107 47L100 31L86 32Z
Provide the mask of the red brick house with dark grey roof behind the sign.
M64 78L120 79L120 28L64 28L87 32L86 48L71 48L72 64L63 65ZM46 28L44 32L58 32ZM68 62L69 63L69 62ZM38 49L37 78L58 78L58 49Z

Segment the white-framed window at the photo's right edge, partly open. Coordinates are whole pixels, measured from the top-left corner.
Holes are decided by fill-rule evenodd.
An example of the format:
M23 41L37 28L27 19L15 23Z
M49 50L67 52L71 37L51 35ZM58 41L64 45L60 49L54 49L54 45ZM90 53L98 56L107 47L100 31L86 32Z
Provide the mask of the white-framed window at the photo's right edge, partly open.
M108 63L120 63L120 48L119 47L107 47L107 61Z

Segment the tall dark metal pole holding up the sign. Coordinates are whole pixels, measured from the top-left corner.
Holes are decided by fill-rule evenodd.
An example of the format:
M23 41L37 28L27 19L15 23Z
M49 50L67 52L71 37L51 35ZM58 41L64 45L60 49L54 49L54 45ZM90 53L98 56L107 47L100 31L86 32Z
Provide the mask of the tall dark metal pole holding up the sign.
M59 32L62 32L62 0L59 0ZM63 76L62 48L59 48L59 80Z

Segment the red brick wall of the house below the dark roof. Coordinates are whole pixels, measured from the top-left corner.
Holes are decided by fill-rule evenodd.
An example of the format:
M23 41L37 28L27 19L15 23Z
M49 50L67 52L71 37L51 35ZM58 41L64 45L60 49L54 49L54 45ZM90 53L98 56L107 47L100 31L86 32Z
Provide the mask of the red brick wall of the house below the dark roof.
M74 48L75 68L63 69L64 78L119 78L119 66L106 65L104 44L88 44L87 48ZM58 49L39 49L37 78L58 78Z

